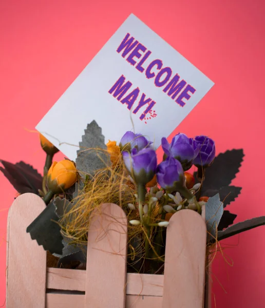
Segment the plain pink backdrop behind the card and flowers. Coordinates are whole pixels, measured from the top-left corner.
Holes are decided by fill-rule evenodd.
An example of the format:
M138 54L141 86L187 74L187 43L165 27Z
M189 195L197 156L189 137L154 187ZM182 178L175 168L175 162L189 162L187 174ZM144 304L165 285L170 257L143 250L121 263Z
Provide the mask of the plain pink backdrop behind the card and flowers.
M176 132L207 134L217 152L243 148L245 159L233 181L242 194L229 209L238 214L236 222L264 215L264 8L262 0L2 0L0 159L24 160L42 172L37 134L25 128L34 129L133 12L215 82ZM15 190L2 174L0 181L1 306L7 211ZM259 227L225 242L224 254L234 266L222 257L214 262L218 308L264 307L264 236L265 227Z

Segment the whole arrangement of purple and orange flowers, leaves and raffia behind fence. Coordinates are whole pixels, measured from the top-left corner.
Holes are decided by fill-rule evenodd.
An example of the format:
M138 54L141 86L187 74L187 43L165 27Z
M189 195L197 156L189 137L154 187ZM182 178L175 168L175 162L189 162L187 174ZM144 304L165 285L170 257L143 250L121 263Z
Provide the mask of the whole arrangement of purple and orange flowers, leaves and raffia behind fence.
M101 128L88 124L77 160L53 161L58 149L42 134L46 152L43 176L24 162L1 161L0 170L19 194L33 192L47 207L27 228L31 238L56 260L56 266L86 264L86 243L93 210L116 203L128 219L128 271L163 273L166 227L174 213L191 209L202 214L207 245L265 224L265 217L233 224L236 215L224 210L240 194L231 186L243 159L242 150L215 156L215 142L206 136L178 133L162 138L163 161L153 143L127 131L117 144L105 144ZM187 172L192 166L197 171ZM213 245L214 244L214 245Z

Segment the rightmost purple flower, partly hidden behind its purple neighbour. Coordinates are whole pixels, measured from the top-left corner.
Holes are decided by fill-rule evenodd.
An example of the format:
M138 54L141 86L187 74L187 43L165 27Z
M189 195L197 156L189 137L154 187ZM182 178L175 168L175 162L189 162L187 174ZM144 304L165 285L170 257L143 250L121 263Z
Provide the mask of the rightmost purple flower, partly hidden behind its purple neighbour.
M207 167L215 158L215 143L206 136L196 136L194 138L194 147L198 147L199 153L193 161L196 167Z

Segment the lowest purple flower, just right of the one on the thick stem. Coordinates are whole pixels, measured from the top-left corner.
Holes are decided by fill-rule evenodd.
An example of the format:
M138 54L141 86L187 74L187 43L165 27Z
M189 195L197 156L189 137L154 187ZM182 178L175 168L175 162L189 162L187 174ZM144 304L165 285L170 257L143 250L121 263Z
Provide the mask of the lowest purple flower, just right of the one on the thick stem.
M168 157L157 166L157 182L168 190L177 190L177 186L183 186L184 176L181 163L173 157Z

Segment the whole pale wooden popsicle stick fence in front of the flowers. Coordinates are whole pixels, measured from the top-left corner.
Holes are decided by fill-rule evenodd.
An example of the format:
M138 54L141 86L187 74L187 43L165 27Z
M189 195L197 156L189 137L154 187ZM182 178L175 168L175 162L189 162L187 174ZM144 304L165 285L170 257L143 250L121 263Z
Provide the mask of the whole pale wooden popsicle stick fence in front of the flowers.
M172 216L164 275L148 275L126 273L127 218L110 203L90 224L86 271L46 268L46 252L26 233L45 206L24 194L9 210L7 308L204 307L206 227L195 211Z

